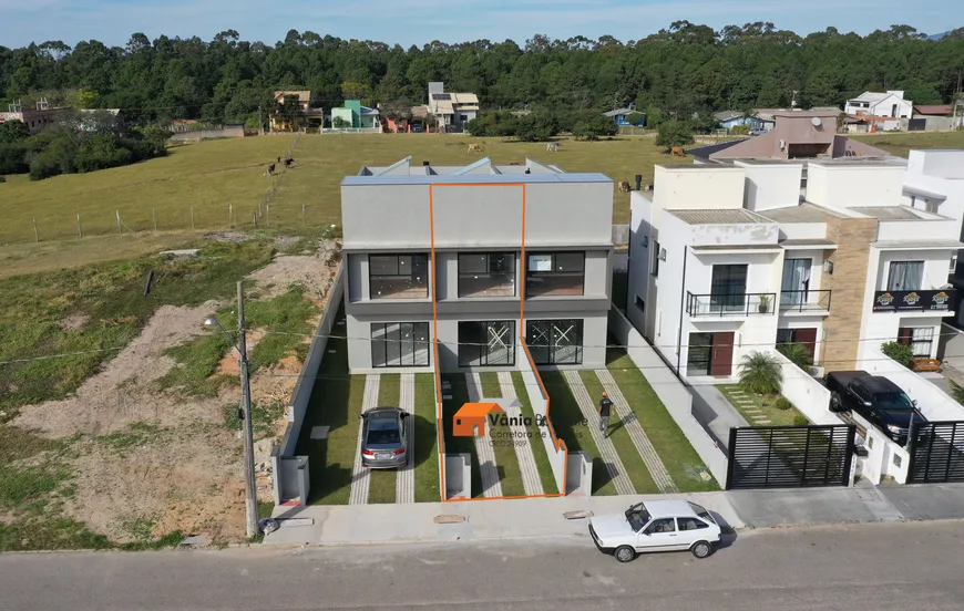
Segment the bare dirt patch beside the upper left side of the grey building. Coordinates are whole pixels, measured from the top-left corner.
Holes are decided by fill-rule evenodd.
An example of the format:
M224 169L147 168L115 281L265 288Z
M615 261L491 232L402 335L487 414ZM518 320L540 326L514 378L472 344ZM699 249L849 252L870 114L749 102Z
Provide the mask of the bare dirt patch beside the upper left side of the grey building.
M338 271L337 266L331 265L337 251L334 240L322 240L314 255L275 257L274 261L250 273L248 279L257 282L258 299L271 299L287 292L291 284L301 284L307 297L320 306Z

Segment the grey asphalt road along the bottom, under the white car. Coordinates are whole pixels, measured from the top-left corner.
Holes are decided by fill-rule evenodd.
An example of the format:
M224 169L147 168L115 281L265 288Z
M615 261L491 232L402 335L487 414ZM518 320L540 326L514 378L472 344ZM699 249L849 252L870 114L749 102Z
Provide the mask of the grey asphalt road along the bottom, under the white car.
M6 555L0 609L961 610L962 542L957 521L751 531L706 560L678 552L628 565L587 537Z

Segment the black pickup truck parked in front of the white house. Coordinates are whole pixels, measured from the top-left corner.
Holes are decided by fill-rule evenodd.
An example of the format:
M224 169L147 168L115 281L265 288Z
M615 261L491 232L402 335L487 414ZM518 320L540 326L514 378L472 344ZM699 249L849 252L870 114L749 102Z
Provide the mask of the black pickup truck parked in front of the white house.
M886 377L865 371L834 371L824 380L831 393L831 412L857 412L901 445L906 444L911 422L927 422L917 402Z

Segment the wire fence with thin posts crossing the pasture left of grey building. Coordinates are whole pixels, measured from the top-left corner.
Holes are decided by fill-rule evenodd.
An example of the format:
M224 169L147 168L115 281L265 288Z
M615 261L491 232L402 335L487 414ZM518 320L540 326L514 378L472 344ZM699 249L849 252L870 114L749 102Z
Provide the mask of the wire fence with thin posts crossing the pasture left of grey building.
M285 159L295 156L301 134L296 133L290 145L275 164L273 173L265 175L270 184L256 203L224 204L222 206L193 206L180 208L139 207L104 211L96 215L33 218L25 224L0 226L0 246L23 242L70 240L91 236L134 236L146 231L174 230L230 230L328 227L339 222L331 207L316 204L309 206L283 198L281 190L287 179ZM297 167L297 162L295 163Z

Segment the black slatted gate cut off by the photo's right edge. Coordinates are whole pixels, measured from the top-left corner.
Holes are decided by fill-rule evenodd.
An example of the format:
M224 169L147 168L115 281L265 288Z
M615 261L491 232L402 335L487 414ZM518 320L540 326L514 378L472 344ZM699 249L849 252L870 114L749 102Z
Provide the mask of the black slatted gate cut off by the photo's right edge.
M916 425L907 452L907 484L964 481L964 422Z

